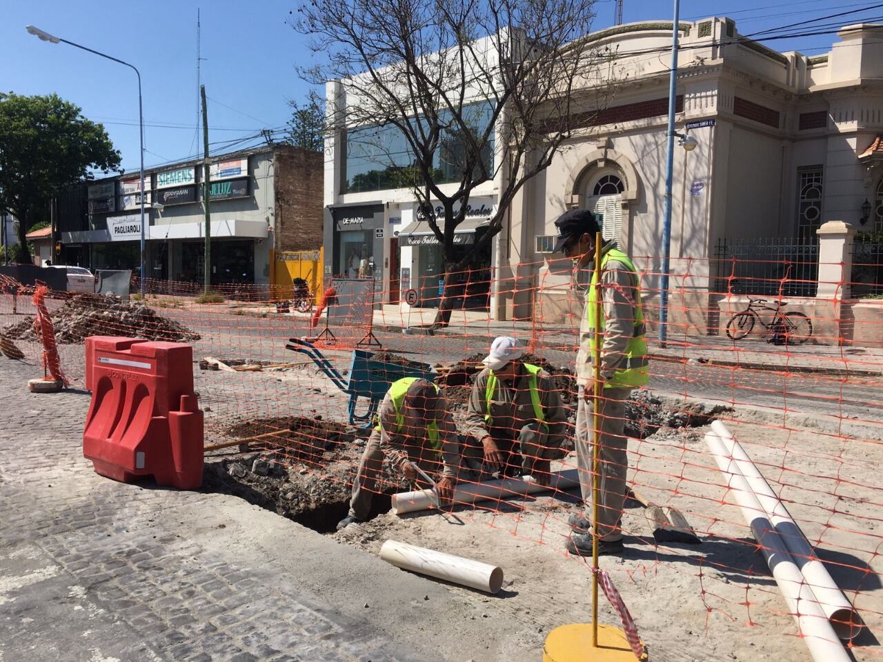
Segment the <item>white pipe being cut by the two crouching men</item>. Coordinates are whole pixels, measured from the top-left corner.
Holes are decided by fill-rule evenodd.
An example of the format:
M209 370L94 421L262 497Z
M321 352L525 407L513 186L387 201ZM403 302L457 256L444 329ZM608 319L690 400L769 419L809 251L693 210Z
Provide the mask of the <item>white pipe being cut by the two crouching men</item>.
M540 485L530 476L524 478L502 478L486 483L463 483L454 488L454 505L472 504L487 500L505 500L548 490L570 490L579 485L576 469L553 472L549 475L549 485ZM432 490L417 490L393 494L393 515L404 515L418 510L426 510L433 505Z

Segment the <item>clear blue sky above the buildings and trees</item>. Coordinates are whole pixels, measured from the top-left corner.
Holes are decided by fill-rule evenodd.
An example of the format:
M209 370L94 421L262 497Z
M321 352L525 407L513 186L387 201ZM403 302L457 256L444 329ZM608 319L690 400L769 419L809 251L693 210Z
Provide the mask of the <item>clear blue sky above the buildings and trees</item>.
M784 26L872 3L803 0L800 3L683 0L682 19L727 15L741 34ZM146 166L196 154L196 13L201 14L202 82L208 94L209 143L283 127L290 116L287 101L303 100L309 87L295 72L313 53L306 38L286 21L297 2L284 0L0 0L0 90L18 94L55 92L78 104L86 117L105 124L123 167L138 169L138 97L132 70L66 44L49 44L27 34L37 26L92 49L131 62L141 71L144 94ZM613 0L598 4L596 29L613 24ZM625 0L623 19L666 19L670 2ZM883 9L841 19L880 19ZM797 49L809 55L830 47L837 37L825 34L769 41L774 49ZM157 126L156 124L171 124ZM201 130L200 130L201 135ZM223 147L218 145L218 147ZM236 147L232 147L236 148ZM220 150L223 151L223 150Z

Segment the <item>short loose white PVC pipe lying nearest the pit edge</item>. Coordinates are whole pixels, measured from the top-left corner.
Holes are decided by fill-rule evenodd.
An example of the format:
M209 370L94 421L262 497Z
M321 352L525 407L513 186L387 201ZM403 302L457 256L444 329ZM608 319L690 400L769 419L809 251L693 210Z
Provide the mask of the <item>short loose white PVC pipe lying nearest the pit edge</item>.
M396 568L419 572L420 575L429 575L486 593L496 593L502 587L502 568L396 540L383 543L381 559Z

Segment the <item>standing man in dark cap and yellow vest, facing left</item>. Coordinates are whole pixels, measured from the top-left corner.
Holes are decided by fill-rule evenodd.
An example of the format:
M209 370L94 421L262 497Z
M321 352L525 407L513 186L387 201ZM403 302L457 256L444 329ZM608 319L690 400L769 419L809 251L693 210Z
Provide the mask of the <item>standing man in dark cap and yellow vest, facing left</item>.
M555 252L574 260L577 268L592 268L592 279L585 292L585 311L579 327L577 353L577 466L583 493L583 514L571 515L573 529L567 551L592 555L592 435L594 419L594 368L592 338L601 335L598 553L623 552L623 503L627 440L623 435L625 403L633 388L647 383L647 343L644 312L641 309L640 279L629 257L605 241L601 251L601 317L596 318L595 238L600 231L598 218L586 209L571 209L556 221L558 241Z

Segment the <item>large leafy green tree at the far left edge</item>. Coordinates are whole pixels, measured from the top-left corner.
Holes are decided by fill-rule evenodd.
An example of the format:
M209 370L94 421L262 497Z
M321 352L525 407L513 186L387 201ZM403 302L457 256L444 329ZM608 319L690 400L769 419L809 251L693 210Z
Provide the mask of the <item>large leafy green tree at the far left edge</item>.
M91 170L108 173L119 162L102 124L80 115L79 106L57 94L0 94L0 208L19 219L25 259L25 235L43 220L49 200L65 186L92 179Z

